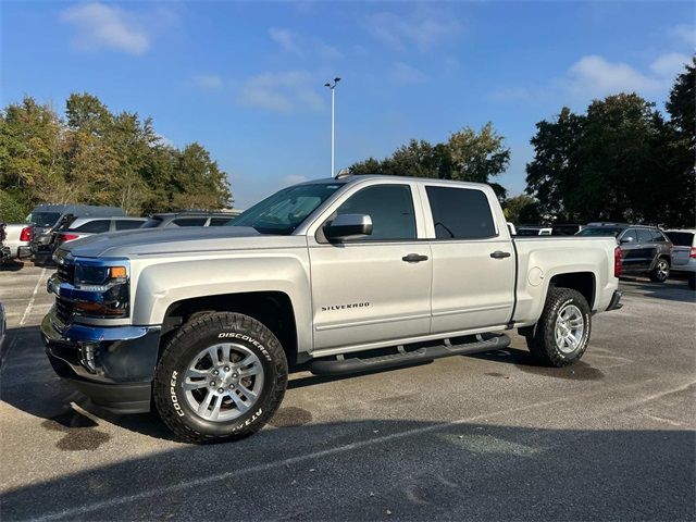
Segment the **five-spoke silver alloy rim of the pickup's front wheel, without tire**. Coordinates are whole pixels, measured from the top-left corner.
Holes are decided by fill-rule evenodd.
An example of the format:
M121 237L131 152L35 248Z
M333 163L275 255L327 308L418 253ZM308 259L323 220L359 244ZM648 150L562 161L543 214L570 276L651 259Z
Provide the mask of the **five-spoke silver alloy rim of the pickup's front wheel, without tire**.
M263 366L246 346L222 343L192 359L182 386L186 402L198 415L226 422L253 408L263 389Z

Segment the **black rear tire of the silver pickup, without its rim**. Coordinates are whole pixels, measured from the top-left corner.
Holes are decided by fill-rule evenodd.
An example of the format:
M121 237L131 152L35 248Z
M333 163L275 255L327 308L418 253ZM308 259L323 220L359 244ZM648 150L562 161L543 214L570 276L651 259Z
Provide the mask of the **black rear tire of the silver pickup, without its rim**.
M584 320L584 332L577 348L571 353L566 353L558 347L555 332L559 312L569 304L574 304L580 309ZM591 310L584 296L571 288L551 286L546 296L542 316L531 335L526 336L526 345L534 358L540 363L562 368L572 364L583 356L587 349L591 331Z

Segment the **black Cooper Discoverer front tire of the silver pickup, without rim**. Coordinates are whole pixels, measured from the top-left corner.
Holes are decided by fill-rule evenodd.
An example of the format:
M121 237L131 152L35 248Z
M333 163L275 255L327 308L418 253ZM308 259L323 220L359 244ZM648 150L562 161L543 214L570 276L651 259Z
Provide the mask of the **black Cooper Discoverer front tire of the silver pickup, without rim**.
M231 338L229 334L240 334L234 343L258 356L264 372L263 388L249 411L227 422L213 422L189 407L181 385L183 380L177 377L184 375L196 353ZM287 373L283 347L262 323L240 313L206 313L184 324L164 348L157 365L152 396L162 421L177 439L195 444L234 440L258 432L273 417L285 395Z

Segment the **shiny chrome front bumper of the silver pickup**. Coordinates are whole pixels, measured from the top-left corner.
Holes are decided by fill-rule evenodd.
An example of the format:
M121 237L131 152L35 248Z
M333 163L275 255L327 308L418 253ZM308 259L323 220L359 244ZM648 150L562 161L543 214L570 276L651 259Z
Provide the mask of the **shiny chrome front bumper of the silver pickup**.
M51 309L41 337L55 373L92 402L117 413L150 410L159 327L63 325Z

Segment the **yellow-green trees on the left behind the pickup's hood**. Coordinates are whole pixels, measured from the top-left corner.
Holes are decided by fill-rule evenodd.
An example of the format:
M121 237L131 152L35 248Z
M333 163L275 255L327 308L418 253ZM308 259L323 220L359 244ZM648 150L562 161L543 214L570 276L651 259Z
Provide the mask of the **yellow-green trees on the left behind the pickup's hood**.
M150 119L112 113L88 94L69 97L64 120L29 97L0 113L0 189L24 209L22 219L41 202L137 214L220 209L232 199L226 174L202 146L169 147Z

